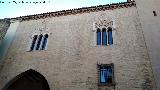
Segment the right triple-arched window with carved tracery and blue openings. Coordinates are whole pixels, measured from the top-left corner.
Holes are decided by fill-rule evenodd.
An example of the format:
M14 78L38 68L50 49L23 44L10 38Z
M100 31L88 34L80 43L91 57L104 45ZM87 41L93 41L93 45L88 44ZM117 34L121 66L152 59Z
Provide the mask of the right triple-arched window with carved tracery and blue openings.
M94 23L94 42L98 46L112 45L114 40L114 25L113 21L103 20ZM96 33L95 33L96 32Z

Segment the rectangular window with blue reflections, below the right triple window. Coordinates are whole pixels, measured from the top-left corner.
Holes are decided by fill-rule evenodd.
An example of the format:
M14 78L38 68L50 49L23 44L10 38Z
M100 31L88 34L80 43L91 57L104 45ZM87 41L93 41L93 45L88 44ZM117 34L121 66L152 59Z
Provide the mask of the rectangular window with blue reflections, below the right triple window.
M102 64L99 67L99 84L113 84L113 65Z

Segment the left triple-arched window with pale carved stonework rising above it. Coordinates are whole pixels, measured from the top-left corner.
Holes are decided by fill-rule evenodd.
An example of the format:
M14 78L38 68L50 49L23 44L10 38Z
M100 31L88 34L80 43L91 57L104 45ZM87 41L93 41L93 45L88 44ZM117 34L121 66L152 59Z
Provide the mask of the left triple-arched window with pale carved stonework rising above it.
M51 35L49 28L47 27L48 21L43 20L36 24L33 35L29 39L29 44L27 45L27 51L39 51L47 50L48 37Z

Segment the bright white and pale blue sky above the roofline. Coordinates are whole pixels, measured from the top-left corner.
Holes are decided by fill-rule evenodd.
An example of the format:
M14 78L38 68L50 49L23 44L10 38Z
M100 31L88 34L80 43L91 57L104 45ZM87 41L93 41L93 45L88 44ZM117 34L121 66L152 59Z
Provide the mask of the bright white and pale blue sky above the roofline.
M22 3L22 1L24 3ZM44 1L45 3L43 3ZM127 0L0 0L0 19L126 1ZM33 2L38 3L35 4Z

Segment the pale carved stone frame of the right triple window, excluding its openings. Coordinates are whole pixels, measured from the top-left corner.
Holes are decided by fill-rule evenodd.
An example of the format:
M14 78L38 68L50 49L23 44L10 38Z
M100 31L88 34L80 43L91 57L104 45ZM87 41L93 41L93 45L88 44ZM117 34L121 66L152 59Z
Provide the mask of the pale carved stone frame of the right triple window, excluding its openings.
M112 46L116 44L116 25L115 25L115 21L112 20L102 20L100 21L101 23L97 23L97 22L93 22L93 42L92 42L92 46ZM102 32L102 29L105 28L106 29L106 33L107 33L107 37L108 37L108 28L112 29L112 38L113 38L113 44L109 45L108 41L107 41L107 45L102 45L102 41L101 41L101 45L97 45L97 29L100 29ZM102 38L102 33L101 33L101 38Z

